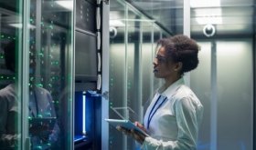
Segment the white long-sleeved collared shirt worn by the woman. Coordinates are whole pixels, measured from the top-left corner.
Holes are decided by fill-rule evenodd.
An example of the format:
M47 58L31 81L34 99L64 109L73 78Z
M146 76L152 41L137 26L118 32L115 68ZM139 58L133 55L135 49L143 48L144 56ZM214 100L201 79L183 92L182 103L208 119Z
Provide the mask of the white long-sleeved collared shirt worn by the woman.
M164 86L157 90L144 115L144 126L150 137L145 138L142 149L197 149L197 134L202 121L203 105L184 84L183 78L165 91L163 89ZM156 108L158 109L155 111Z

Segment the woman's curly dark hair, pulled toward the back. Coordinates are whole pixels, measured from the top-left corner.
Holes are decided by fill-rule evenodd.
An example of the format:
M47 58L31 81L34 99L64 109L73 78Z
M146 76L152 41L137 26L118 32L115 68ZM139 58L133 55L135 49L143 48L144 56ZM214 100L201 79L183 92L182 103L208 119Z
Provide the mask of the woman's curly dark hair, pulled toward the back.
M187 35L162 38L157 41L158 46L165 48L168 61L182 63L181 75L197 68L199 46L195 40L187 37Z

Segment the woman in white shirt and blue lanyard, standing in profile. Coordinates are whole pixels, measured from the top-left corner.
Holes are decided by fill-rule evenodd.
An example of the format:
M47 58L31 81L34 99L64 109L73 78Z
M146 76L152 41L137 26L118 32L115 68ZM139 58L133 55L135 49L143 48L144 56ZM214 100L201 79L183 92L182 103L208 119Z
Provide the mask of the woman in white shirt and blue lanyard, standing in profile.
M198 65L196 41L186 35L175 35L157 42L154 74L163 78L160 87L144 115L144 125L135 122L148 135L121 126L117 129L142 144L142 149L197 149L198 127L203 106L184 83L183 75Z

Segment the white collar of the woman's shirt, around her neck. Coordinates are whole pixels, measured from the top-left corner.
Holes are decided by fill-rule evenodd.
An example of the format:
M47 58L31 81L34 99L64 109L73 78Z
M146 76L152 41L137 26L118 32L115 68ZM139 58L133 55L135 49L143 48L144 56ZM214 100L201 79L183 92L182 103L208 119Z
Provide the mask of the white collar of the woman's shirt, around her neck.
M166 96L167 98L170 98L170 96L173 95L173 93L176 91L176 88L179 87L180 85L185 85L185 81L183 77L176 80L176 82L174 82L172 85L169 85L169 87L166 88L165 91L163 91L165 88L165 85L162 85L157 90L157 92L159 95L163 95L163 96Z

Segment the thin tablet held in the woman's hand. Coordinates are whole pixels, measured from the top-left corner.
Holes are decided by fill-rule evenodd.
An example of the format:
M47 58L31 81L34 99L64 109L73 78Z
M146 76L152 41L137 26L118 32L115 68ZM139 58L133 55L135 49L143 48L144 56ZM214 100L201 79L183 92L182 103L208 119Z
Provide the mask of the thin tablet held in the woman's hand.
M147 135L144 130L140 129L138 126L134 125L130 120L120 120L120 119L105 119L105 121L107 121L110 125L112 125L113 127L116 127L116 126L122 126L122 127L125 127L129 130L131 129L135 129L139 132L141 132L142 134L146 135L146 136L149 136Z

